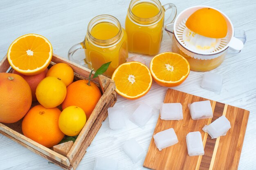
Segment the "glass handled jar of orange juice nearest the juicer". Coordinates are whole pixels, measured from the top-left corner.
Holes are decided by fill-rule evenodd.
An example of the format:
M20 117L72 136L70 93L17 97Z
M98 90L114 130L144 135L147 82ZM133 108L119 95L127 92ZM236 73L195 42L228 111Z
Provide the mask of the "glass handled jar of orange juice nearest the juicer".
M163 36L164 13L172 9L168 22L175 19L174 4L161 5L159 0L132 0L126 16L125 30L130 52L146 55L159 53Z

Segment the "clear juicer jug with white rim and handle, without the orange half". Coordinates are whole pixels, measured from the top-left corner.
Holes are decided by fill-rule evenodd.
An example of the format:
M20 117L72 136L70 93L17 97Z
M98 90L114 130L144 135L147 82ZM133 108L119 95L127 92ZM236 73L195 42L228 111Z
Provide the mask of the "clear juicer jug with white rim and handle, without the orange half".
M220 39L220 46L210 52L196 51L187 46L182 40L182 36L184 36L183 34L187 29L185 25L186 20L192 13L201 8L211 8L222 13L220 10L213 7L194 6L185 9L177 16L173 23L169 23L164 26L164 29L172 39L173 52L184 56L188 60L192 71L210 71L218 67L225 59L226 54L229 53L228 49L233 51L233 53L239 53L241 49L243 49L243 45L246 41L244 30L238 30L238 32L240 31L240 35L238 36L243 40L243 42L234 36L235 31L232 22L229 20L227 15L222 13L227 22L228 32L225 38Z

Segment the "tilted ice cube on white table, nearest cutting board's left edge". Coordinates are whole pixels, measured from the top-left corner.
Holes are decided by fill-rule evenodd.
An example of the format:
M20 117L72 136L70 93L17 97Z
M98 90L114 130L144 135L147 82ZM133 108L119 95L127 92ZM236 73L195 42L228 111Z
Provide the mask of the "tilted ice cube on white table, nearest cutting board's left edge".
M139 105L139 107L134 111L130 120L137 126L144 128L146 123L149 121L150 117L153 115L153 108L145 103Z

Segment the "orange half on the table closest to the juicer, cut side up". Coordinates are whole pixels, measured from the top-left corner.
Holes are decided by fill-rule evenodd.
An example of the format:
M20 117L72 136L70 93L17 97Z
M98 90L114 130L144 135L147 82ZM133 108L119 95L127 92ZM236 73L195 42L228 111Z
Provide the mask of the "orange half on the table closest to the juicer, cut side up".
M189 62L177 53L161 53L150 62L150 72L157 84L174 87L182 84L190 72Z

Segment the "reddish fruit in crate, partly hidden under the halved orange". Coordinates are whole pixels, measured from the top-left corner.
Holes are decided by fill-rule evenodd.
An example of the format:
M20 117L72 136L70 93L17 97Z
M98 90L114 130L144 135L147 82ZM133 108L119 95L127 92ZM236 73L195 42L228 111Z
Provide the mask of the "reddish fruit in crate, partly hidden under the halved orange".
M46 77L46 73L48 71L48 68L45 69L42 73L39 73L37 75L22 75L18 71L14 70L13 73L20 75L23 77L26 82L29 84L29 87L31 88L32 92L32 101L36 101L36 87L40 83L42 79Z

